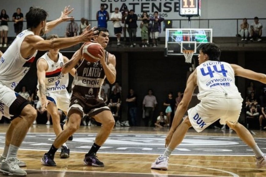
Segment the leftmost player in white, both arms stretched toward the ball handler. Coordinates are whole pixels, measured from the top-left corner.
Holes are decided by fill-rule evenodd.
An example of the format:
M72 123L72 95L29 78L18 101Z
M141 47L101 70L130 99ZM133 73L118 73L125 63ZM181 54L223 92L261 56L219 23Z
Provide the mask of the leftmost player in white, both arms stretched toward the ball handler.
M70 47L80 42L89 41L94 36L94 28L73 38L44 40L40 35L50 31L59 23L69 20L68 14L73 9L65 7L57 20L47 23L45 10L33 8L27 14L28 30L17 35L13 43L0 58L0 117L11 119L6 132L6 142L1 156L0 171L7 175L25 176L27 173L19 166L25 163L18 161L17 151L29 127L36 118L36 110L26 99L14 92L14 88L30 69L38 50L50 50ZM40 88L40 90L44 90Z

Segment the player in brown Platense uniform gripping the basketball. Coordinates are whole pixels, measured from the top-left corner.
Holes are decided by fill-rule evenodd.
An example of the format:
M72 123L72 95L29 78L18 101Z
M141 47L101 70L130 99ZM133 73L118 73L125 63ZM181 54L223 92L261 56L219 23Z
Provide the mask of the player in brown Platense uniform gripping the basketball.
M111 84L116 80L116 57L104 50L109 42L108 30L106 28L98 28L98 31L98 37L94 38L94 40L103 47L101 49L102 55L99 55L101 60L94 63L87 62L82 57L81 48L62 68L62 73L67 73L78 64L72 83L72 96L68 108L68 125L54 140L50 150L44 154L42 164L46 166L56 166L54 162L55 152L70 135L77 131L84 114L102 123L102 128L98 132L93 146L85 154L83 162L91 166L104 166L98 160L96 153L111 133L115 120L109 107L106 106L101 98L100 92L105 78Z

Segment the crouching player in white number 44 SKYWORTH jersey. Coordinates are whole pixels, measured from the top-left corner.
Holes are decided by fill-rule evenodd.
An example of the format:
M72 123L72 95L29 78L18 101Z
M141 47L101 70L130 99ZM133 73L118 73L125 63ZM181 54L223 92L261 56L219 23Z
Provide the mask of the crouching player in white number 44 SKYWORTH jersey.
M183 99L175 112L172 127L165 139L167 147L151 165L152 169L168 168L168 159L172 151L179 145L187 130L193 126L201 132L220 119L220 124L227 124L253 150L256 155L257 168L266 167L266 155L255 143L250 132L238 123L242 108L242 97L235 85L235 75L266 83L266 75L244 69L236 64L220 62L220 48L213 44L204 44L198 55L199 66L189 76ZM198 99L195 107L188 110L188 116L179 125L198 85ZM179 126L178 126L179 125Z

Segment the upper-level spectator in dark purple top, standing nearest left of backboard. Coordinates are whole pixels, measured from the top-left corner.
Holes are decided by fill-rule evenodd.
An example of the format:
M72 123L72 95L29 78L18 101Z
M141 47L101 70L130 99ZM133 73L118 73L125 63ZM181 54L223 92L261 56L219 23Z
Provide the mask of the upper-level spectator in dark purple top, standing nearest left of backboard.
M158 44L159 33L161 33L161 22L164 21L164 18L158 16L158 12L154 12L154 16L150 18L152 21L151 35L153 40L153 47L156 47Z

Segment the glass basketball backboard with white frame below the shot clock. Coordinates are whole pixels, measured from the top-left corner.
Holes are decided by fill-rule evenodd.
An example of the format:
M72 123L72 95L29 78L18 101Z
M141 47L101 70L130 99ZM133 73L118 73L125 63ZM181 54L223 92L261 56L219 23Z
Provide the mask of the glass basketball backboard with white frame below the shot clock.
M194 50L198 55L202 44L212 42L212 29L166 28L165 54L183 55L183 50Z

